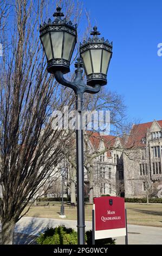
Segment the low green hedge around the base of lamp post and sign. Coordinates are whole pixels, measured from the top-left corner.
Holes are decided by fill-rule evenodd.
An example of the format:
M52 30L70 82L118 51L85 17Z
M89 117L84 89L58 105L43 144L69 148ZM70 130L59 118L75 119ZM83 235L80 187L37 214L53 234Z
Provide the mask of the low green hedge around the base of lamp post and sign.
M87 245L92 245L92 230L86 231L85 240ZM56 228L47 228L36 239L38 245L77 245L77 232L72 228L60 225ZM95 240L96 245L115 245L115 239Z

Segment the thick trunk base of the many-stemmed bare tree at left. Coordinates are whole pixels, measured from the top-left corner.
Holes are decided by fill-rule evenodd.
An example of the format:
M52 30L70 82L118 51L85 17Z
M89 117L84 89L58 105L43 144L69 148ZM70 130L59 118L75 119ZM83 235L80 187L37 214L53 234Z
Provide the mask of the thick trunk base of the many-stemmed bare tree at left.
M2 220L2 245L12 245L15 224L12 219Z

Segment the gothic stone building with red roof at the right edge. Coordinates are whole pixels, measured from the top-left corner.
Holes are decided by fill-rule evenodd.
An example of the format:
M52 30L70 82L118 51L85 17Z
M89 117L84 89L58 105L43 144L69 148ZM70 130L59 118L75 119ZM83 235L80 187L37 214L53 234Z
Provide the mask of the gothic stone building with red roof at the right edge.
M157 196L161 160L162 120L133 125L124 153L125 197Z

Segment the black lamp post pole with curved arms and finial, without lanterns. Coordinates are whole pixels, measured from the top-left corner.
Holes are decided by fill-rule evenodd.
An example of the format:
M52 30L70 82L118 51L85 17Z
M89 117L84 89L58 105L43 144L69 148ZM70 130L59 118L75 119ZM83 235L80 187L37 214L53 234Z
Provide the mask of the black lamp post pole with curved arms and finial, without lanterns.
M83 64L81 58L75 63L75 80L67 81L61 71L55 72L57 82L63 86L72 88L76 95L76 170L77 170L77 243L85 245L85 198L84 198L84 166L83 166L83 130L82 130L82 105L84 93L99 93L101 86L93 87L84 83L82 73Z

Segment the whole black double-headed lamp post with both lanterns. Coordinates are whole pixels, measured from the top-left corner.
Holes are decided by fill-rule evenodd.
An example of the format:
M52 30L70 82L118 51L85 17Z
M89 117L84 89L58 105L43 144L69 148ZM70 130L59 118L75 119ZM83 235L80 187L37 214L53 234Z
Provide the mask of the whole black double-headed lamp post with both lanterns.
M78 244L85 245L85 204L84 204L84 167L83 167L83 94L98 93L107 84L107 71L112 57L112 42L99 38L97 27L92 38L80 44L80 56L75 63L75 79L67 81L63 75L70 72L70 60L76 44L76 25L66 18L62 19L61 8L57 7L54 21L48 20L40 26L40 38L47 57L47 70L55 75L57 82L72 88L76 95L76 166L77 166L77 237ZM87 84L83 82L83 68Z

